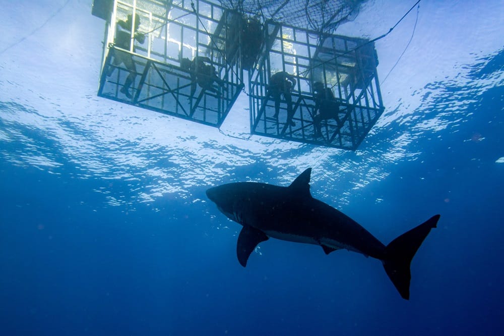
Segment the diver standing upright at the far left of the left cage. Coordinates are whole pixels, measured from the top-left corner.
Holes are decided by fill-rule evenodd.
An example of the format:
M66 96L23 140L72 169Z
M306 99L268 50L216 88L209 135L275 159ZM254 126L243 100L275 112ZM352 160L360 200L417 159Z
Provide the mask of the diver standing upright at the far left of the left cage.
M135 30L134 30L134 37L132 38L131 34L133 26L135 26ZM140 16L138 14L135 15L135 25L133 25L133 16L131 14L128 14L128 18L126 21L122 20L118 21L116 25L114 45L121 49L131 51L132 39L135 39L143 44L145 42L145 35L137 31L139 27L140 27ZM130 74L124 81L124 85L120 89L120 92L131 99L133 98L133 96L130 93L130 86L135 80L135 77L137 76L137 68L135 66L135 62L133 61L133 57L130 53L122 51L114 52L114 59L112 61L112 65L114 65L114 67L108 68L107 76L111 76L114 69L118 67L121 63L124 64L124 66L126 67L126 69L128 69Z

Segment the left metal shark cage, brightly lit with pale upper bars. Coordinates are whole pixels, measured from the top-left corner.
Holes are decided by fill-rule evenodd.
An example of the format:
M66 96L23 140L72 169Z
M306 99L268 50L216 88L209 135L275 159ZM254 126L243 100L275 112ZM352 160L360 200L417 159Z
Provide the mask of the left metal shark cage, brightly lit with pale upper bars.
M229 11L206 0L95 0L92 14L106 20L99 96L222 124L243 88Z

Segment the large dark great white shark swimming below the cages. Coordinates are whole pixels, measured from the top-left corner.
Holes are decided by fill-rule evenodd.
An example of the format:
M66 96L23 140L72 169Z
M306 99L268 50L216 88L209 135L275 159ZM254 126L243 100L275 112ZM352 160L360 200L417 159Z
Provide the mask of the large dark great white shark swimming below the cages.
M238 182L207 190L217 208L243 226L236 246L239 263L245 267L250 253L270 237L320 245L326 254L346 249L381 260L401 297L408 300L411 260L440 215L385 246L343 212L314 199L309 191L310 175L308 168L288 187Z

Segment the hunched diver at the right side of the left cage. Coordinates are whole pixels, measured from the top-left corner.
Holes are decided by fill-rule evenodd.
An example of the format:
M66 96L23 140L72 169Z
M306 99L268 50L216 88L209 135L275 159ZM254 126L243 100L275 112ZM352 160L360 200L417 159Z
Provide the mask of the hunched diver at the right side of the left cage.
M212 61L205 56L195 57L193 61L184 58L180 62L180 67L191 73L191 97L193 97L196 92L196 84L203 90L209 90L218 95L221 95L221 93L219 89L214 87L214 83L217 83L226 90L226 85L224 81L217 76L215 67L206 63L212 63Z

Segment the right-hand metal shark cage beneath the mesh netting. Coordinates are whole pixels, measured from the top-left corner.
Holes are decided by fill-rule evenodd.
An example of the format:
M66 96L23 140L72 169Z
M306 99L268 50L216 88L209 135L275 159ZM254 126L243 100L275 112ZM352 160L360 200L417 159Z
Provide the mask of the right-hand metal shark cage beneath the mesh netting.
M269 21L256 69L249 71L252 134L355 150L384 111L376 74L374 44L365 39L320 34ZM270 78L279 71L292 74L292 110L282 97L275 115L268 95ZM331 116L314 122L314 83L332 91ZM320 118L320 117L318 117ZM317 134L319 133L319 134ZM316 136L316 134L318 136Z

